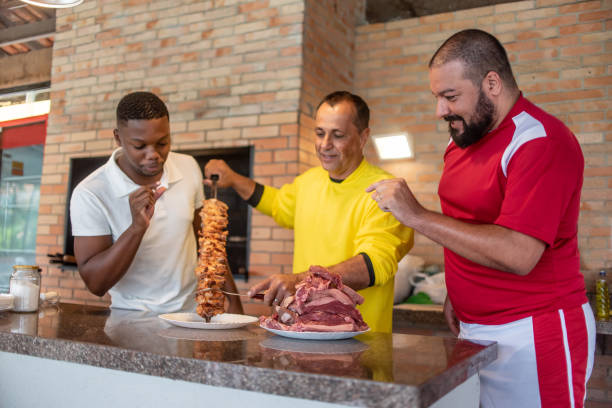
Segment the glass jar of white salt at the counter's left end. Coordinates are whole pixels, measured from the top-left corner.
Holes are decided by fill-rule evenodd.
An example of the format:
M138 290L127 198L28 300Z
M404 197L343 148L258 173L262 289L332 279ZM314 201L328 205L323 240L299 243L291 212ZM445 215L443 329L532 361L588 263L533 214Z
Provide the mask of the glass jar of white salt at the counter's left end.
M13 311L35 312L40 297L40 268L38 265L15 265L9 280L9 292L15 296Z

